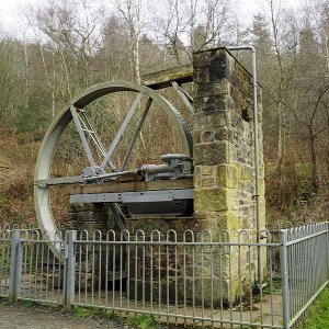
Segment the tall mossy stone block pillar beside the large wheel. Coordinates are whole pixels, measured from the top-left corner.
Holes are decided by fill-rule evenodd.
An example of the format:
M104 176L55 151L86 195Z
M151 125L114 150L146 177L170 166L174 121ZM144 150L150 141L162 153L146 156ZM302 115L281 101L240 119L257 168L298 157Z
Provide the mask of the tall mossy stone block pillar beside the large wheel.
M252 77L226 48L194 54L193 69L194 218L214 234L220 229L248 229L256 241ZM264 229L261 120L259 104L260 227ZM237 241L234 235L231 241ZM226 292L231 297L239 291L235 258L237 254L231 254L231 272L225 277L228 282L232 276L232 291ZM248 269L248 257L243 259L242 271ZM251 261L256 280L257 252ZM265 265L265 254L262 264ZM247 283L249 279L242 280Z

